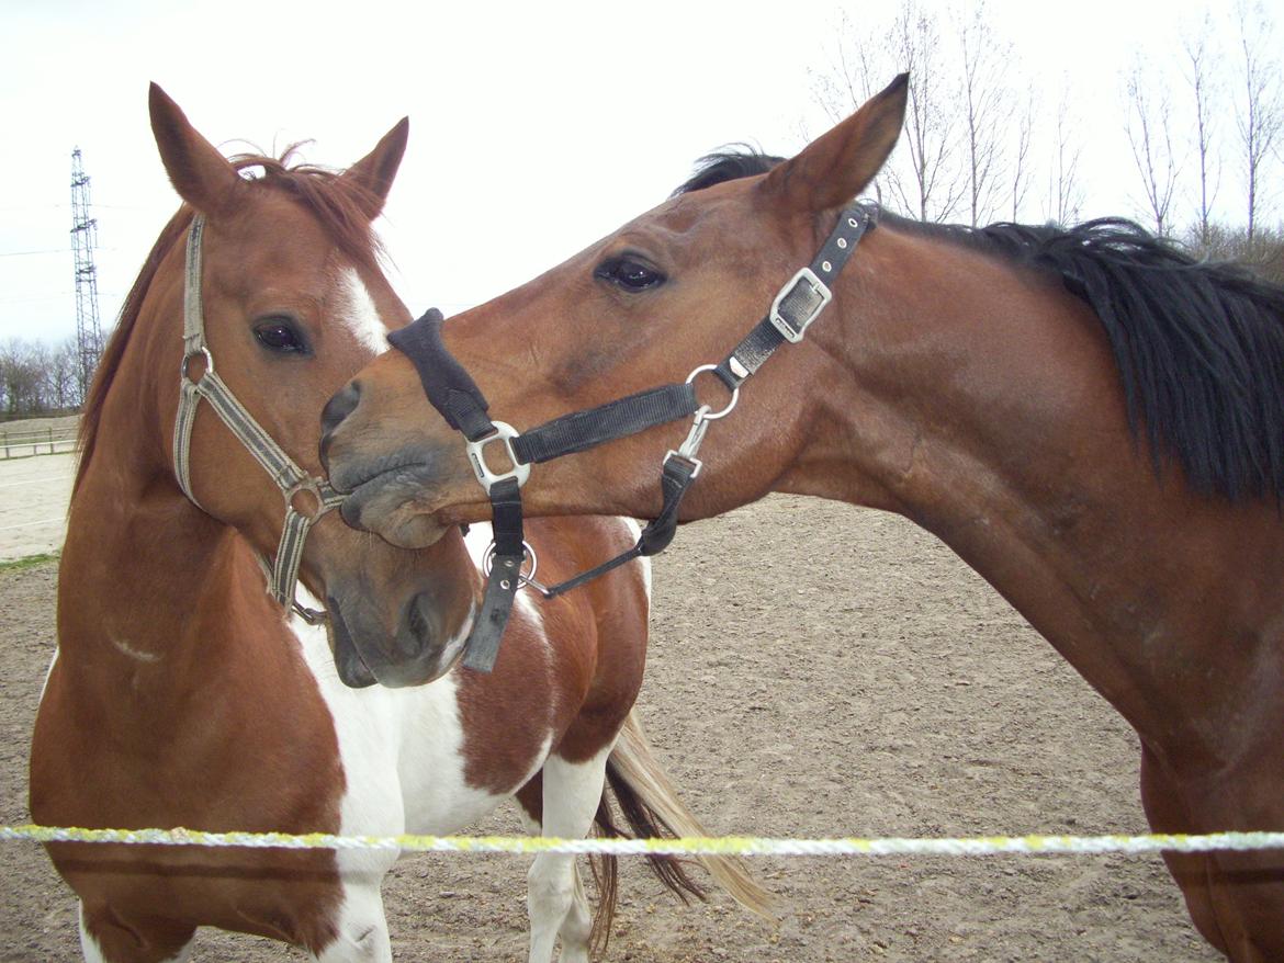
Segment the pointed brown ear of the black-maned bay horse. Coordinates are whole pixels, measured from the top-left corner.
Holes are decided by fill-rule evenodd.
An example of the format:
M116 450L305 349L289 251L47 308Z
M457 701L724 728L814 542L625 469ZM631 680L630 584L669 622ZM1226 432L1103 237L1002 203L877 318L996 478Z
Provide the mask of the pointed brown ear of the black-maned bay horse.
M908 92L909 74L903 73L797 157L773 168L759 190L777 196L791 211L818 213L849 203L896 146Z

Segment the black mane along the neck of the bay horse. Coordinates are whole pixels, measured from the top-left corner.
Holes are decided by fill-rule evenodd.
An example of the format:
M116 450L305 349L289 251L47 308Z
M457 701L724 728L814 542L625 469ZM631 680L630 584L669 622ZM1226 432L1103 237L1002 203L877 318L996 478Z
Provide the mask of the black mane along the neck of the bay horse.
M1100 318L1156 469L1175 458L1202 493L1284 503L1284 288L1116 218L1070 229L885 221L1058 275Z

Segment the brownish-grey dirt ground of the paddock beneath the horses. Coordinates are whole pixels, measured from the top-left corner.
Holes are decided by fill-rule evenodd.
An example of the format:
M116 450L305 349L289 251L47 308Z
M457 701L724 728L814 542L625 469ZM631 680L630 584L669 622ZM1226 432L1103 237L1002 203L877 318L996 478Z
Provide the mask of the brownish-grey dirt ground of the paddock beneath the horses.
M833 556L847 556L833 566ZM818 564L822 562L822 564ZM0 571L0 822L54 643L56 570ZM826 575L849 573L842 584ZM876 512L774 497L656 560L641 711L706 827L764 836L1144 832L1136 740L945 547ZM515 832L510 811L485 832ZM754 860L776 930L621 867L610 960L1220 959L1154 858ZM525 958L517 856L412 856L385 883L398 960ZM0 960L78 959L42 851L0 844ZM299 960L203 932L194 959Z

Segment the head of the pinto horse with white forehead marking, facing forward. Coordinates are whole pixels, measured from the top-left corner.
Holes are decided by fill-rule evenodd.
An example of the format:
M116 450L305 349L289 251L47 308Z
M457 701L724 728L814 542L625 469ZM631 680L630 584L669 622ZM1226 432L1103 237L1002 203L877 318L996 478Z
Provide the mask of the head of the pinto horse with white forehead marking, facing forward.
M131 419L152 439L149 484L181 487L205 515L236 529L266 568L289 568L282 553L299 550L282 538L282 519L303 520L299 579L329 611L345 683L437 678L462 650L475 611L479 580L462 537L449 533L411 553L353 532L324 515L327 485L316 455L325 399L408 318L371 230L408 122L336 175L262 157L229 162L155 85L150 108L185 207L158 241L122 313L126 330L104 357L86 406L77 487L100 453L99 429ZM109 394L121 403L104 403ZM202 403L181 402L185 394ZM222 394L234 401L220 404ZM257 435L267 437L267 455L256 453ZM280 601L290 605L293 578L286 582Z

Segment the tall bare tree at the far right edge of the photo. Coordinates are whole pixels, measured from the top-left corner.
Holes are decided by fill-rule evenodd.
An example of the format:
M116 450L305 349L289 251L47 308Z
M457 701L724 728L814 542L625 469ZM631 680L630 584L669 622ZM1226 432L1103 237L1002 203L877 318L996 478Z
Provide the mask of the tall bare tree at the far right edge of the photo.
M1262 184L1266 159L1276 153L1280 127L1284 125L1284 98L1280 92L1280 64L1270 53L1272 24L1261 3L1240 3L1236 8L1239 41L1244 59L1242 95L1235 113L1243 149L1248 202L1248 241L1252 244L1257 221L1265 207Z

